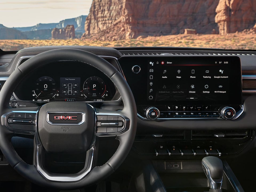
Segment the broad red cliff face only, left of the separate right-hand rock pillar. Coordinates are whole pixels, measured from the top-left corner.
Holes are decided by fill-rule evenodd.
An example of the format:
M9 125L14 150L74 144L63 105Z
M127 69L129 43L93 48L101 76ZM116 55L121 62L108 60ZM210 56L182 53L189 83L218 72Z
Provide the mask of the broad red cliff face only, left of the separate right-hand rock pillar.
M216 0L93 0L83 36L127 39L184 33L186 28L211 33L218 29L217 5Z

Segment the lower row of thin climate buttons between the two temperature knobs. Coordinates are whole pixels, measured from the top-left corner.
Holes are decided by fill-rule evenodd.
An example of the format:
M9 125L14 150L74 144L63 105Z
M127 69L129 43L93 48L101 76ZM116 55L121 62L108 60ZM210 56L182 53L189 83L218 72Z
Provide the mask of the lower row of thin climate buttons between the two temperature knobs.
M160 112L159 118L186 118L186 117L219 117L218 112Z

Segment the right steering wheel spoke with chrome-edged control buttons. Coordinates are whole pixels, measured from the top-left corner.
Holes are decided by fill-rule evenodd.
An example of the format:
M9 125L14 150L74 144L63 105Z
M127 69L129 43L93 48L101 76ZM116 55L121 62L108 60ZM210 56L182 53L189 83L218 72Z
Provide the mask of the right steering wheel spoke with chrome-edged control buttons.
M123 111L97 109L96 136L121 135L129 129L130 119Z

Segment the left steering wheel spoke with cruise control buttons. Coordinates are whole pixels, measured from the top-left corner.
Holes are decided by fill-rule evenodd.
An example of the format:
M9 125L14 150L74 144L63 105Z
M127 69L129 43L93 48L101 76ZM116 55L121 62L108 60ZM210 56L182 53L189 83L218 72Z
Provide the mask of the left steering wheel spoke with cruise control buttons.
M37 125L38 107L30 107L25 110L7 109L1 117L2 126L10 134L34 135Z

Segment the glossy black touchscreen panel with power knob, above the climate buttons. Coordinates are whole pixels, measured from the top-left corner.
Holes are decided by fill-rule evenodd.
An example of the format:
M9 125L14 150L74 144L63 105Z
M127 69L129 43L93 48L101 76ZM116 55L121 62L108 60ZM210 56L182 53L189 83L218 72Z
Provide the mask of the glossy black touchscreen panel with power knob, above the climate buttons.
M242 104L239 57L149 56L119 62L124 71L130 68L125 75L137 105ZM135 65L138 73L131 70Z

